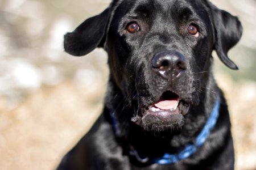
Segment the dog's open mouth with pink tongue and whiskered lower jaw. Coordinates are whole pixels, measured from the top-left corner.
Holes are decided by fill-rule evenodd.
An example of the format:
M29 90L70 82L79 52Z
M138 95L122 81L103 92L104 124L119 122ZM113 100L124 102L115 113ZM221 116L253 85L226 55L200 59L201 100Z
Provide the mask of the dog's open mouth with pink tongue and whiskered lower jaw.
M187 114L188 110L189 104L179 95L166 91L154 104L143 108L134 122L145 130L166 130L181 126L184 120L183 116Z

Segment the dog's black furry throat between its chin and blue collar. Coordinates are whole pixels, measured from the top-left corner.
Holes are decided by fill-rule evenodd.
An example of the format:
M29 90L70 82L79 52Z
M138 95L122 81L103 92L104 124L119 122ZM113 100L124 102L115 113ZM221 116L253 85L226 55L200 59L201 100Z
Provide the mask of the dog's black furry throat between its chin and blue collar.
M202 102L199 105L210 105L210 107L207 107L209 111L203 109L205 107L193 107L185 116L186 121L182 130L171 129L152 133L144 131L141 126L130 121L134 114L133 108L129 107L126 103L127 101L124 100L125 97L123 97L122 92L118 91L112 83L110 85L112 86L109 86L109 95L112 97L109 99L112 103L111 105L106 103L106 107L109 108L109 114L111 115L110 123L113 125L115 137L119 145L122 146L124 153L126 155L133 155L134 158L137 157L135 162L138 162L140 159L143 162L143 158L160 158L165 153L176 154L183 151L188 144L195 142L197 135L200 134L205 126L205 122L210 117L214 103L216 103L218 98L217 94L219 94L219 89L215 83L207 84L204 88L205 90L200 95L201 101L207 102ZM212 91L215 91L216 94L208 95ZM205 99L205 96L210 96L210 98ZM117 103L113 101L117 101ZM119 108L118 105L125 107Z

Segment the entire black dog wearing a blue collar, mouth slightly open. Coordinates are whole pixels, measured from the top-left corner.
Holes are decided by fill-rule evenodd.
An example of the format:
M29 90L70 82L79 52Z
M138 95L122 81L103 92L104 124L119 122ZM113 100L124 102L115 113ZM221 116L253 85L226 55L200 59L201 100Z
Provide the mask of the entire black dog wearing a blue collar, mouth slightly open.
M234 169L212 51L227 53L238 19L207 0L114 0L65 35L65 51L108 53L105 108L58 169ZM93 86L93 84L92 84Z

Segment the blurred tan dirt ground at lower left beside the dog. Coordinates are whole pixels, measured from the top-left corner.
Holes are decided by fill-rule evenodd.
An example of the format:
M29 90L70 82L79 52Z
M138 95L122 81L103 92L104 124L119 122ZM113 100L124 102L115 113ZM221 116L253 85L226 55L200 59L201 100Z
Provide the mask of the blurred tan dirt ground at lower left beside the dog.
M54 169L101 112L101 95L63 83L36 91L11 111L0 100L0 169Z

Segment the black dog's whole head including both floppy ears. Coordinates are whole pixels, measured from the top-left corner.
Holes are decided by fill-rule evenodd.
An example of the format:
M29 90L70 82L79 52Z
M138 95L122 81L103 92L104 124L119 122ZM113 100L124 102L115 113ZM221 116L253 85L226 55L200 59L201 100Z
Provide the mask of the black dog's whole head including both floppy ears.
M227 53L241 34L238 19L207 0L120 0L67 33L64 47L74 56L104 47L113 83L138 109L135 121L166 130L199 104L212 50L237 69Z

